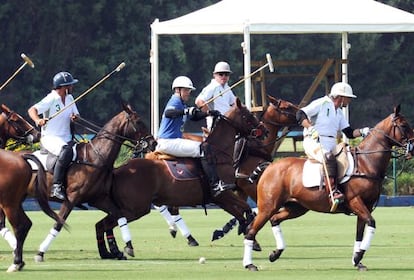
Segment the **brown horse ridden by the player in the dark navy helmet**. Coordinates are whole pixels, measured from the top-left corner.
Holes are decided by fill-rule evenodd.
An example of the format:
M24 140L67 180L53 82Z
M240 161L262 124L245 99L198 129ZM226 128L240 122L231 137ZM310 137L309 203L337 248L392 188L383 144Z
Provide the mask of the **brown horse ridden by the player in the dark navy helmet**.
M59 211L59 216L66 220L73 207L82 203L111 213L118 218L122 226L126 242L132 247L129 230L120 209L109 196L112 187L112 169L124 141L139 142L150 138L147 126L130 105L124 104L123 111L113 117L88 143L80 143L76 147L77 160L67 172L66 195ZM49 177L49 187L52 176ZM36 261L43 261L44 254L56 238L63 223L57 222L41 243L35 256ZM124 236L123 236L124 237Z

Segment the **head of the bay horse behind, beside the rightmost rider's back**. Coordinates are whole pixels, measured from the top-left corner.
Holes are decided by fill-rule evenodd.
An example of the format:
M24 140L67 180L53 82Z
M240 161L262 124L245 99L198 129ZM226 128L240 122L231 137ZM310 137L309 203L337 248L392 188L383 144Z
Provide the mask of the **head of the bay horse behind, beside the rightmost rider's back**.
M263 122L272 126L293 126L297 125L296 112L299 107L282 99L276 99L268 95L269 106L263 112Z

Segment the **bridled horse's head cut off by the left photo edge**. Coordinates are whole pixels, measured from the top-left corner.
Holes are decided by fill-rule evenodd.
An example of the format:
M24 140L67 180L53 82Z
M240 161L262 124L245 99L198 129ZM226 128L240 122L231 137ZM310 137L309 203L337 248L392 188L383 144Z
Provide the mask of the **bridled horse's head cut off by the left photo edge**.
M27 144L33 144L40 141L40 132L22 116L10 110L4 104L1 105L1 111L1 118L3 118L3 121L0 121L0 125L7 139L12 138Z

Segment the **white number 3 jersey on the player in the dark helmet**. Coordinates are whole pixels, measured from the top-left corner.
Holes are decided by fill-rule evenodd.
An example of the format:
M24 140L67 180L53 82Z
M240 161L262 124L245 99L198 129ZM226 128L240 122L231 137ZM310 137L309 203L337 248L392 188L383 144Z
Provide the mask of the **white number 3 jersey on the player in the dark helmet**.
M65 104L68 105L73 102L73 96L67 94L65 97ZM62 103L62 99L59 94L52 90L47 96L34 105L39 114L43 114L43 118L53 116L55 113L62 110L65 105ZM46 125L42 126L43 136L55 136L62 139L64 142L72 140L72 134L70 131L70 118L72 114L79 115L76 104L70 105L62 113L49 120Z

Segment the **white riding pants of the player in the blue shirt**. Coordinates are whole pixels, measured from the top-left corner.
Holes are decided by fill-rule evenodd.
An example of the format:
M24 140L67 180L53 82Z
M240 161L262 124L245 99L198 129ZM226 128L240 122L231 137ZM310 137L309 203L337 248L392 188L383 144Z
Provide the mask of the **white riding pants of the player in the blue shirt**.
M156 151L163 152L176 157L201 157L200 142L175 138L175 139L158 139Z

